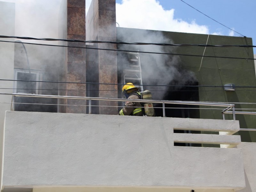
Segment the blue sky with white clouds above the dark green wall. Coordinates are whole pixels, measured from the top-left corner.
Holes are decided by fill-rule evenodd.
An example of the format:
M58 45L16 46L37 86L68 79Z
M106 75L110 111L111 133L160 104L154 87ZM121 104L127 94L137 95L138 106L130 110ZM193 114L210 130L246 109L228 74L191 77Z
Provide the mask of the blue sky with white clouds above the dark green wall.
M256 0L183 0L187 4L193 6L197 10L203 12L204 14L208 15L214 20L217 20L221 24L227 26L235 30L236 32L242 34L243 36L251 37L253 40L253 45L256 45ZM131 7L130 5L131 4ZM132 4L134 4L132 6ZM138 15L138 11L134 6L139 6L142 10L142 13ZM150 4L154 4L153 7ZM162 6L161 9L156 6L159 4ZM204 33L204 34L215 34L215 35L224 35L224 36L241 36L240 34L233 32L232 30L222 26L221 24L217 23L216 21L206 17L202 13L196 11L189 5L185 4L181 0L116 0L116 21L119 23L120 27L131 27L131 28L138 28L136 22L140 22L141 20L136 20L136 17L130 18L131 23L133 23L134 27L130 25L127 26L126 23L129 23L128 20L124 20L123 18L127 18L129 14L131 16L132 12L138 17L143 17L145 15L148 16L146 12L149 12L151 15L154 15L158 20L163 19L165 17L172 17L169 18L170 20L175 20L176 22L172 23L172 26L176 26L176 29L170 28L170 31L179 31L179 32L192 32L192 33ZM123 6L123 8L122 8ZM125 7L127 13L125 12ZM155 7L155 9L154 9ZM158 7L158 8L157 8ZM118 14L118 10L122 9L122 14ZM135 9L132 11L132 9ZM164 14L167 12L172 11L172 14ZM160 13L161 12L161 13ZM146 14L145 14L146 13ZM150 19L150 18L148 18ZM147 29L155 29L157 30L168 30L168 28L161 28L160 25L164 26L164 23L157 23L156 19L156 26L155 28L152 27L152 23L148 24L145 20L140 22L139 28L148 28ZM153 21L154 22L154 21ZM143 24L141 24L143 23ZM181 23L183 23L183 27L181 27ZM187 26L185 25L187 24ZM175 27L174 27L175 28ZM193 31L189 31L188 28L193 28ZM196 32L198 31L198 32ZM256 49L254 48L254 54L256 54Z

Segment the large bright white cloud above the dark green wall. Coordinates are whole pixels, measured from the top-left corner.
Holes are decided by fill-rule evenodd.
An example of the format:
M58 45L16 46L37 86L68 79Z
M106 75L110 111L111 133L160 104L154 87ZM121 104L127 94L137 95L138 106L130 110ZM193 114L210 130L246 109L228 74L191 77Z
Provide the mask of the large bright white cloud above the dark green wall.
M174 9L164 10L156 0L123 0L116 4L116 22L120 27L209 34L209 28L174 19Z

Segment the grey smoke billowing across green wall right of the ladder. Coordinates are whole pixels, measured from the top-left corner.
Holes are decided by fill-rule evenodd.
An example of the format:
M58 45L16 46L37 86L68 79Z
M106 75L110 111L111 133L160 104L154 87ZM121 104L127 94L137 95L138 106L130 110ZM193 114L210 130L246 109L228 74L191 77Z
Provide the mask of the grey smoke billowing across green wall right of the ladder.
M119 28L119 30L117 30L117 36L118 41L124 42L173 43L172 40L165 37L161 31ZM186 71L181 68L181 60L179 56L155 54L156 52L175 53L176 47L159 45L122 45L119 46L119 49L134 52L137 50L140 52L152 52L139 53L142 68L142 81L144 80L143 84L185 85L196 81L196 77L194 76L193 72ZM179 88L180 87L177 87L177 89ZM155 95L154 99L163 99L165 91L168 91L169 87L146 86L144 89L161 91L162 94Z

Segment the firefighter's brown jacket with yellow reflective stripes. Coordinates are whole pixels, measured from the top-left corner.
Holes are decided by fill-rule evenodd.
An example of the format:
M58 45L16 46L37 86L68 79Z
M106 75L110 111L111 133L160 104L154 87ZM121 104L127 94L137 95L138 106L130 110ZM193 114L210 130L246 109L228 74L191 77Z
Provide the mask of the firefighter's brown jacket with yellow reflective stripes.
M137 92L140 95L140 92ZM131 94L128 99L140 99L138 95ZM122 108L118 115L132 115L132 116L142 116L142 108L140 102L126 101L124 108Z

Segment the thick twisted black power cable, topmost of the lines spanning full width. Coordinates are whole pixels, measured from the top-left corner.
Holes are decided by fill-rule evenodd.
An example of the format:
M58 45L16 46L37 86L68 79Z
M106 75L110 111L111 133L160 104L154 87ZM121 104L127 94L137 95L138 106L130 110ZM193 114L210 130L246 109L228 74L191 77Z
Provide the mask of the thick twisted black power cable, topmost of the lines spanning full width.
M127 43L120 41L83 41L76 39L53 39L53 38L35 38L35 37L19 37L19 36L0 36L0 38L17 38L26 40L41 40L41 41L64 41L76 43L109 43L109 44L128 44L128 45L161 45L161 46L200 46L200 47L256 47L254 45L209 45L209 44L168 44L168 43Z

